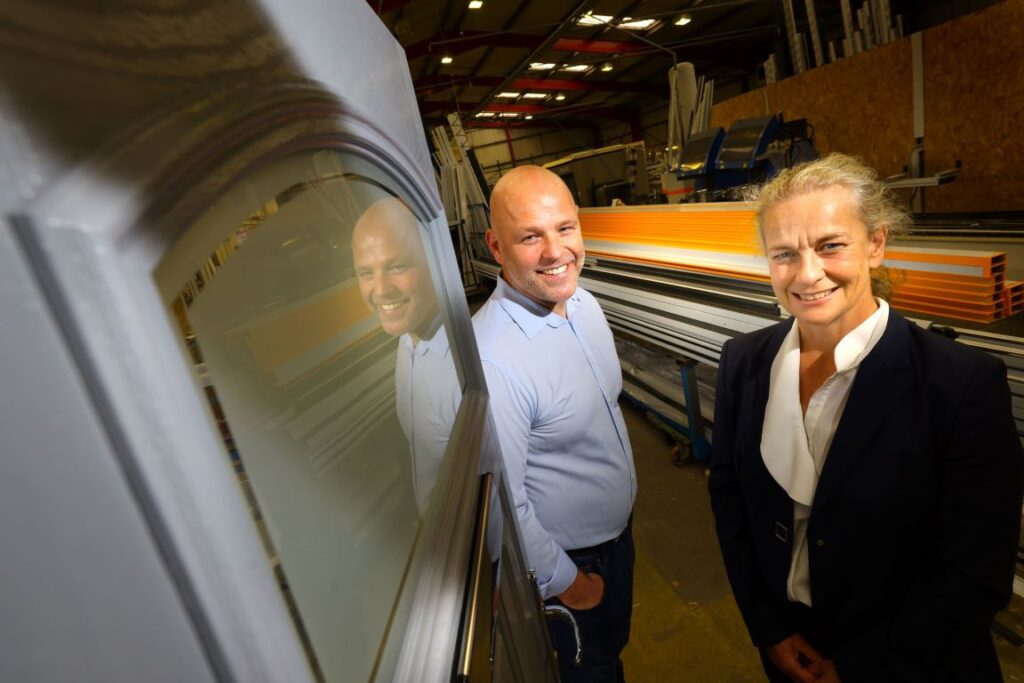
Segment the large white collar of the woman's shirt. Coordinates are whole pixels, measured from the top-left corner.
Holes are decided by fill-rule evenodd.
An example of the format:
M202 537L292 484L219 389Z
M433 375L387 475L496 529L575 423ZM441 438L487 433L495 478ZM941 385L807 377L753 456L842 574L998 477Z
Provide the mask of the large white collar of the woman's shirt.
M857 368L870 353L889 322L889 304L879 308L836 345L836 372ZM785 493L810 506L818 485L818 471L807 443L804 411L800 404L800 329L794 321L771 364L771 384L761 430L761 458Z

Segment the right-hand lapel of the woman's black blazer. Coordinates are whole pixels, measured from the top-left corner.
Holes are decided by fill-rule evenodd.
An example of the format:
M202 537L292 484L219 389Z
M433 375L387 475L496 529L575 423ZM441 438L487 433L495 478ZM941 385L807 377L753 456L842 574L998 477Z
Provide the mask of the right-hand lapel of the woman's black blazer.
M912 323L890 309L882 339L857 369L814 493L814 509L823 506L840 487L910 388L908 325Z

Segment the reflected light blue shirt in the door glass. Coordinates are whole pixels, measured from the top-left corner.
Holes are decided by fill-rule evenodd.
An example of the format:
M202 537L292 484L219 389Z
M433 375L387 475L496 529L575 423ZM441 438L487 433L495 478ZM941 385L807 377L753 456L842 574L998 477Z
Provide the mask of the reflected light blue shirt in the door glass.
M394 388L398 423L409 439L413 459L416 504L422 513L437 482L462 401L444 326L438 326L430 339L416 343L408 334L398 338Z

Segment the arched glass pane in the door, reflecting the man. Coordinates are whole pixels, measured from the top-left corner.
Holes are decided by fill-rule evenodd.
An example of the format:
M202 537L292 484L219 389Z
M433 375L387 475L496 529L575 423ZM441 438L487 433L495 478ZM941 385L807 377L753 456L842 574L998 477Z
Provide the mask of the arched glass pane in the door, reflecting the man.
M461 400L424 227L387 187L357 158L290 157L226 193L158 272L332 682L373 680L403 635Z

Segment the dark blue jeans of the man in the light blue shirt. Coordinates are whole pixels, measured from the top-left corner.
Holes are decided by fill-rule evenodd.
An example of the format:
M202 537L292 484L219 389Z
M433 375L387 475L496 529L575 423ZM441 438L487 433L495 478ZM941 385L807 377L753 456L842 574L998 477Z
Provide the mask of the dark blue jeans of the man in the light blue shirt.
M618 654L630 641L633 613L633 532L632 520L622 535L594 548L568 551L585 572L599 573L604 580L604 598L593 609L572 609L583 641L583 663L577 667L572 627L548 621L551 639L558 653L562 683L625 683ZM557 598L548 603L561 604Z

